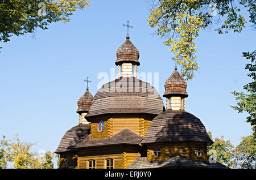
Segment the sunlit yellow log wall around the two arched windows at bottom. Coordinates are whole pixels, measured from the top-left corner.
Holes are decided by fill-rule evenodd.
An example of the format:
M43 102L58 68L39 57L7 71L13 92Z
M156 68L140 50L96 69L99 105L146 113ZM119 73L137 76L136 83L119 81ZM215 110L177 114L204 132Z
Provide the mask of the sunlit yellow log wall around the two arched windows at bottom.
M139 153L119 153L114 155L98 155L98 156L84 156L77 158L77 168L78 169L88 169L88 161L95 160L96 169L105 169L106 168L106 159L113 158L114 160L114 169L123 169L127 168L137 158Z

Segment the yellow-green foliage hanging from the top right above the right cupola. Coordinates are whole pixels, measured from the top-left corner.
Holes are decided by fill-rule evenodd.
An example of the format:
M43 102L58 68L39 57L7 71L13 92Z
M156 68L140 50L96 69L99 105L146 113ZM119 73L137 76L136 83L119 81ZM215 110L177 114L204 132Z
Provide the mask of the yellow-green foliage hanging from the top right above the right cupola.
M240 7L247 8L250 22L255 27L256 0L158 0L152 2L148 25L156 27L155 33L171 46L175 61L183 67L182 76L192 79L199 69L196 62L195 38L203 28L222 24L214 31L241 32L246 21ZM214 15L216 13L217 16ZM223 22L221 22L223 20Z

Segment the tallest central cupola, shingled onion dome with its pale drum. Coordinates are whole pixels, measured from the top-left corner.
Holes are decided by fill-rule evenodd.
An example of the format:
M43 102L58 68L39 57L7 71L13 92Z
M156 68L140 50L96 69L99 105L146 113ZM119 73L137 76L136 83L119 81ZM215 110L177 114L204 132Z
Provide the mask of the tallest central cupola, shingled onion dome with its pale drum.
M126 37L126 41L117 50L118 78L135 77L137 78L137 67L139 66L139 51Z

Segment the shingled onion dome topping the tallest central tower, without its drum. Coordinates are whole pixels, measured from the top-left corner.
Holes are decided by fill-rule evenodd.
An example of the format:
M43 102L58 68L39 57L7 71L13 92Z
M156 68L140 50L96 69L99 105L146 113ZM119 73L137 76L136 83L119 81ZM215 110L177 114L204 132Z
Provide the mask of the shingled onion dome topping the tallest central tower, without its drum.
M139 51L130 41L130 37L126 37L126 41L117 49L117 61L115 65L120 65L123 62L131 62L139 66Z

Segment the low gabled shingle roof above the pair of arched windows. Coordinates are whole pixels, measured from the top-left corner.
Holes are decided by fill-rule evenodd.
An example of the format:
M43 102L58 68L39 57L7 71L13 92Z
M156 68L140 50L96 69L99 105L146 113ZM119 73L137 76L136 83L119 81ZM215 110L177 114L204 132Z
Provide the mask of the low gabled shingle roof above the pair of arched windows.
M122 131L109 138L90 139L90 135L88 135L85 139L82 139L79 143L77 143L75 148L97 147L117 144L139 144L141 140L141 136L129 130L129 128L124 128Z

